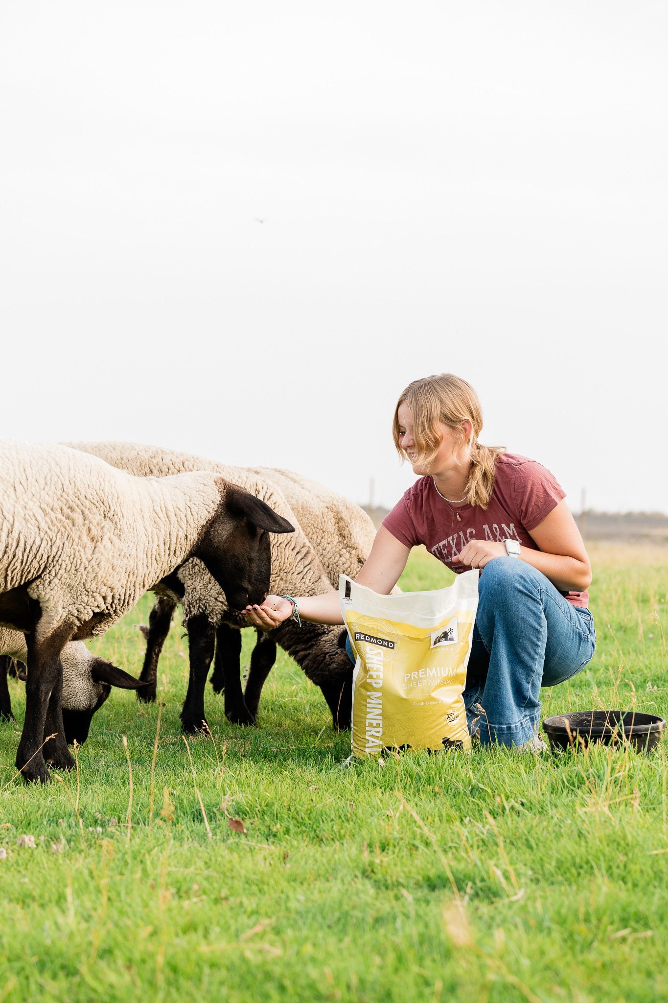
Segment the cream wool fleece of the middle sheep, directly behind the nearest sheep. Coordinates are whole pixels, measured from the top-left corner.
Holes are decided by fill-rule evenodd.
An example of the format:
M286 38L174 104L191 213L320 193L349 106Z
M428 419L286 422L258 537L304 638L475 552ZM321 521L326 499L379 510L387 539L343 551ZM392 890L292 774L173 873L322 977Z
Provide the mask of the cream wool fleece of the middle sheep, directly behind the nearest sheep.
M266 501L295 528L290 534L271 534L271 580L269 591L288 595L321 595L331 588L319 555L299 526L281 490L267 477L240 466L228 466L190 453L129 442L70 442L75 449L100 457L112 466L138 476L163 477L185 470L210 470ZM341 566L340 566L341 567ZM339 573L337 573L338 576ZM216 626L223 618L245 626L245 618L228 610L225 597L201 561L191 558L177 572L183 583L183 620L203 614ZM339 578L337 577L337 585ZM341 629L339 630L341 633Z

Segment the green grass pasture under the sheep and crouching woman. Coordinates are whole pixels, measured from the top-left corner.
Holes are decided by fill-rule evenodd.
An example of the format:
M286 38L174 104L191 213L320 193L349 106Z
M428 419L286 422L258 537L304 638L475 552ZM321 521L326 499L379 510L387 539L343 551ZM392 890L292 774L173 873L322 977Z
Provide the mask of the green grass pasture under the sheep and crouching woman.
M668 716L668 551L592 550L597 653L543 691L544 713ZM447 581L416 552L402 586ZM96 650L138 673L149 608ZM160 664L163 706L115 690L78 775L42 789L13 769L24 698L10 682L0 1003L668 998L668 739L647 756L479 749L343 767L350 734L281 655L257 727L228 724L209 687L213 741L186 746L181 633Z

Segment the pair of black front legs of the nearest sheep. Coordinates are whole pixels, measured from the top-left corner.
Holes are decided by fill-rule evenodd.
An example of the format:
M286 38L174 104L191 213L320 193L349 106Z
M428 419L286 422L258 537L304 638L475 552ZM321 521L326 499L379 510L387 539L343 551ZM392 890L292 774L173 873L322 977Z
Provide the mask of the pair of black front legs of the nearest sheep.
M35 641L34 629L26 638L28 678L26 680L25 721L21 741L16 752L16 768L21 771L26 780L39 780L41 783L45 783L49 779L42 745L45 735L54 732L57 733L57 739L47 742L45 746L49 759L54 765L66 769L74 765L74 759L65 743L60 702L63 679L60 652L71 636L71 628L62 625L39 643ZM50 731L45 732L47 719Z

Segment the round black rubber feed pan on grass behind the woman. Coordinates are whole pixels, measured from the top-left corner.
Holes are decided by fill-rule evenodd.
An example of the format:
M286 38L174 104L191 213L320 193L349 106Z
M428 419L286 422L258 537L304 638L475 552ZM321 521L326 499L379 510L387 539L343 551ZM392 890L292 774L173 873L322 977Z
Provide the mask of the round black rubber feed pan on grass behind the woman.
M582 748L591 742L622 744L625 740L638 752L649 752L658 742L666 722L656 714L633 710L581 710L546 717L543 731L553 751Z

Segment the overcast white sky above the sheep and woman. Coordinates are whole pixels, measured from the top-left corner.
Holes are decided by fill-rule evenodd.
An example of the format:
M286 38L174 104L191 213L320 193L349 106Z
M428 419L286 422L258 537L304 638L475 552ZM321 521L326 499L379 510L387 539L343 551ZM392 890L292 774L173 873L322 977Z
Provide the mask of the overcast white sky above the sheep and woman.
M412 379L668 512L668 5L5 3L6 435L414 479ZM261 222L260 222L261 221Z

